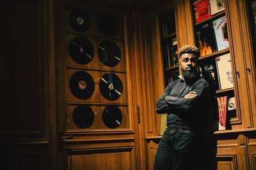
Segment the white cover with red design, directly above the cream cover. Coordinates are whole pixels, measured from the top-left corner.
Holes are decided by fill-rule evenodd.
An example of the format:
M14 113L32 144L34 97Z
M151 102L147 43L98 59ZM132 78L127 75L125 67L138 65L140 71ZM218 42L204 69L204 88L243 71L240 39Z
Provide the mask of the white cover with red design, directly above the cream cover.
M226 16L212 22L218 51L229 48Z

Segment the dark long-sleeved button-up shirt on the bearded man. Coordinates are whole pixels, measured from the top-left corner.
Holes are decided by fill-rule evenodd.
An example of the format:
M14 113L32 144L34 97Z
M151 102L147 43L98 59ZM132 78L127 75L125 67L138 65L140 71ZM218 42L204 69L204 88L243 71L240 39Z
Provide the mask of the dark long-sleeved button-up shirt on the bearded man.
M196 92L196 97L186 99L189 92ZM209 84L198 78L192 85L182 79L172 81L159 97L156 104L157 113L168 113L167 127L172 129L188 129L200 131L204 113L208 104Z

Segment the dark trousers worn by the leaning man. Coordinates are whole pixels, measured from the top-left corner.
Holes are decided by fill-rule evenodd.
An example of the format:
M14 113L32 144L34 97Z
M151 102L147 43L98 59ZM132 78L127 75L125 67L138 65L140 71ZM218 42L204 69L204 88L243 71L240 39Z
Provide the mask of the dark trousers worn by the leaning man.
M159 141L154 170L195 169L195 134L184 129L166 129Z

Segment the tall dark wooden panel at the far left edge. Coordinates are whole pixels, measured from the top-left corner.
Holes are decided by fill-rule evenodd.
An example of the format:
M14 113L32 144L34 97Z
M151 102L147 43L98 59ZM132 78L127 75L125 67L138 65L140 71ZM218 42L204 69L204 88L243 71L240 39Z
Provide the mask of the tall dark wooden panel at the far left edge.
M40 1L10 1L1 15L1 133L42 132L40 7Z

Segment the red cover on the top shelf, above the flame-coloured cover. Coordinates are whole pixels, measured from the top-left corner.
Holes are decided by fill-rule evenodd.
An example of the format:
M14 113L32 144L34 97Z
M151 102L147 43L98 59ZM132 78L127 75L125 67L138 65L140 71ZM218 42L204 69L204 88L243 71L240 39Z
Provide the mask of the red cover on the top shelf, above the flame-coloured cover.
M211 17L209 1L198 0L193 3L196 23Z

